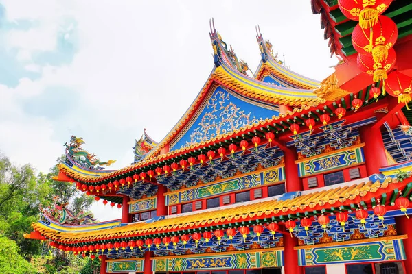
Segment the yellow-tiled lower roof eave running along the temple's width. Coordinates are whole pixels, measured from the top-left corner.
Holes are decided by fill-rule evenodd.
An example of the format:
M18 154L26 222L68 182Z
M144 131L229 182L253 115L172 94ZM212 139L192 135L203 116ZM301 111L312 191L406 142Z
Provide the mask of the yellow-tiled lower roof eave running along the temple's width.
M93 232L62 233L41 226L38 223L34 223L32 226L47 238L63 244L88 243L128 236L149 236L242 221L276 219L280 216L288 216L288 214L304 214L305 212L322 211L332 207L339 209L341 206L351 206L352 204L361 203L361 201L370 204L372 199L376 197L379 198L382 195L390 197L394 189L403 190L410 181L410 179L406 179L403 182L398 182L391 177L385 177L382 182L378 179L376 182L369 181L353 184L352 186L336 186L336 188L311 192L286 201L266 199L265 201L245 203L233 208L220 208L219 210L185 214L185 216L171 216L154 223L132 223L113 229L98 229Z

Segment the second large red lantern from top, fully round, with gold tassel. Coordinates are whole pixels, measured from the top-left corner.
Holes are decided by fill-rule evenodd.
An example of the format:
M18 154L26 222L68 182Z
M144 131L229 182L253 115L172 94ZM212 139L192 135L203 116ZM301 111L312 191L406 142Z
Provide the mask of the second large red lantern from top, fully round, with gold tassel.
M387 16L379 16L374 27L363 29L356 25L352 32L352 45L360 54L372 54L376 63L387 60L388 49L398 39L398 28Z

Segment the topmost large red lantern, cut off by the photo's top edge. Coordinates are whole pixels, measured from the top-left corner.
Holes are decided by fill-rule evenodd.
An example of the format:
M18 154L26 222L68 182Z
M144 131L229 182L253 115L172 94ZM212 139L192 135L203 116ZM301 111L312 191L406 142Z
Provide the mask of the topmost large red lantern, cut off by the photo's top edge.
M391 3L392 0L338 0L343 15L350 20L359 21L363 29L373 27Z

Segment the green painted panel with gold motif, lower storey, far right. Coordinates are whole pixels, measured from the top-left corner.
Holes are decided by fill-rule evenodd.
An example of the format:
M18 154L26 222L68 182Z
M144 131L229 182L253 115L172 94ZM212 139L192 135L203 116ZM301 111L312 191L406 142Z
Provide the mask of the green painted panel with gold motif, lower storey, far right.
M400 238L299 250L300 266L388 260L405 260L404 247Z

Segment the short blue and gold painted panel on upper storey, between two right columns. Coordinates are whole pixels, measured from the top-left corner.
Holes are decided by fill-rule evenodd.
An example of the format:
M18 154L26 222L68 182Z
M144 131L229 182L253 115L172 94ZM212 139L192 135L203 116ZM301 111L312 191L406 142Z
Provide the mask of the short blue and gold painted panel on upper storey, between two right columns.
M304 177L334 169L343 169L346 166L365 162L363 144L347 149L339 149L328 155L319 155L296 161L299 165L299 176Z

